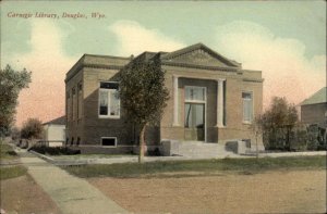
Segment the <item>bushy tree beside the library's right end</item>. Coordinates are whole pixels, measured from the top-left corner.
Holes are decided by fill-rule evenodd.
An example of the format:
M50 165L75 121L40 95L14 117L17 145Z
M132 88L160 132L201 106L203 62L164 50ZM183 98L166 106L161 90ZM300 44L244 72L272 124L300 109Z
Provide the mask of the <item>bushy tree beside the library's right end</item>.
M263 128L264 139L269 148L291 149L290 133L299 122L294 104L286 98L274 97L270 108L261 116L259 124ZM281 146L280 141L284 141Z

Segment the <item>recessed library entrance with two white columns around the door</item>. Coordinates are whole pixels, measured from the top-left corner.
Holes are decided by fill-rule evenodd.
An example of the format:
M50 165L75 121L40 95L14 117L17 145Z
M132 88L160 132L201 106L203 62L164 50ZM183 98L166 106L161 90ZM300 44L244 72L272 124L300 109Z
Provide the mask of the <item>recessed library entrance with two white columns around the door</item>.
M187 83L184 79L187 79ZM192 85L193 81L193 85ZM202 81L202 84L198 84ZM207 139L207 117L216 118L217 128L225 127L225 78L217 78L215 88L213 87L213 78L193 77L186 75L172 76L173 89L173 118L172 127L184 128L185 141L205 141ZM196 84L197 83L197 84ZM210 86L210 96L214 98L207 103L207 88ZM179 92L179 88L182 92ZM213 90L214 89L214 90ZM213 95L214 93L214 95ZM210 104L208 108L207 105ZM215 105L215 106L211 106ZM180 111L183 109L184 111ZM209 111L216 109L216 111ZM183 113L183 114L181 114ZM210 140L211 141L211 140Z

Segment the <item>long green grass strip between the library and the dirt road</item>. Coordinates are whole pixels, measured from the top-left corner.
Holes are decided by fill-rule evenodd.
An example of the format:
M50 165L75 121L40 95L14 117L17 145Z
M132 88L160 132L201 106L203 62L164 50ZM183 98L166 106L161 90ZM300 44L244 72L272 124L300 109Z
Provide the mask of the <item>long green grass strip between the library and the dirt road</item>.
M241 174L255 174L271 169L325 169L326 156L293 156L293 158L263 158L256 159L223 159L202 161L170 161L123 163L111 165L83 165L65 166L69 173L87 177L160 177L162 173L196 172L205 174L217 174L219 172L241 172Z

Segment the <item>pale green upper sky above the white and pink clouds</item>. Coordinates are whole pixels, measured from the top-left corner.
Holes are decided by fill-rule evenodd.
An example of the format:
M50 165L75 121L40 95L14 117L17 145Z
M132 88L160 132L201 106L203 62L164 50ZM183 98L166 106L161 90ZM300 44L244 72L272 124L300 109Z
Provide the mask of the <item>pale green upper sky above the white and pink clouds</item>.
M307 56L326 52L325 1L8 1L1 4L1 41L7 42L3 50L7 54L31 50L29 22L33 18L8 18L8 12L11 11L106 14L107 18L102 21L89 17L53 21L69 34L63 38L62 48L70 55L84 52L114 54L119 47L116 47L117 39L107 27L119 20L135 21L185 45L202 41L208 46L215 45L214 29L217 26L233 21L249 21L268 28L278 37L300 40L305 46Z

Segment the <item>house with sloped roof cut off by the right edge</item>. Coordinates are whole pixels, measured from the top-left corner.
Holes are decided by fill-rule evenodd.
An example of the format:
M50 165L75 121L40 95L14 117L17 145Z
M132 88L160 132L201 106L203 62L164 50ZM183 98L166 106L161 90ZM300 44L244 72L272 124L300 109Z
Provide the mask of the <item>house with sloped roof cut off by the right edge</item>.
M320 128L327 127L327 87L322 88L301 105L301 122L304 124L317 124Z

